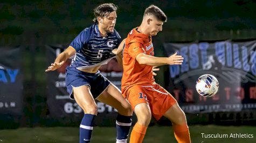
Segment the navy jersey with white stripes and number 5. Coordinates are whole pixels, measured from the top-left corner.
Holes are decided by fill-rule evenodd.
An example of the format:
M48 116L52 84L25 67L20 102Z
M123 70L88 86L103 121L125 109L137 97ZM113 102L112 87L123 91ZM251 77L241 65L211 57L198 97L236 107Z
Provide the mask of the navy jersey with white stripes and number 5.
M121 37L115 29L113 33L102 37L98 25L85 28L70 44L77 51L70 66L77 69L88 69L107 64L110 59L115 57L112 50L117 48L121 41Z

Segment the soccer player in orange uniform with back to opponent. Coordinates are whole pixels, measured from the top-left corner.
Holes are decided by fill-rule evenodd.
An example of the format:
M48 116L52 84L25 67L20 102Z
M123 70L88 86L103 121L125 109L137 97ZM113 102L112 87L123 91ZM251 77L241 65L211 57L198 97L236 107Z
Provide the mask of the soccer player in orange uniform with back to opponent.
M137 116L130 136L131 143L143 141L151 115L157 120L167 117L172 122L179 143L191 142L184 112L174 97L156 84L153 77L153 66L180 65L183 62L183 57L177 53L170 57L154 57L151 36L162 31L165 21L164 12L150 5L144 12L141 25L129 32L123 49L122 95L130 102Z

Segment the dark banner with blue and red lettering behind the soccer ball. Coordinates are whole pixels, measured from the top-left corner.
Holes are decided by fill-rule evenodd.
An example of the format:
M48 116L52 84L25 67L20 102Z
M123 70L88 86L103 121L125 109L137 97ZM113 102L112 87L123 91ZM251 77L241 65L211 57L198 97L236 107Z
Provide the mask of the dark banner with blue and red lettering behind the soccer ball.
M168 91L185 112L219 112L256 109L256 41L164 43L168 56L184 57L182 65L169 66ZM212 74L219 81L215 96L203 97L196 81Z

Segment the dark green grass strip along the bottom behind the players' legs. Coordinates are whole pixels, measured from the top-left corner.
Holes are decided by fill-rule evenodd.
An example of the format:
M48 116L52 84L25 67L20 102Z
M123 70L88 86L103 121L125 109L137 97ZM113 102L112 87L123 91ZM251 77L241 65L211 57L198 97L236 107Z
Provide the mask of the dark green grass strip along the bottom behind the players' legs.
M202 138L202 134L253 134L253 138ZM216 126L193 125L190 126L192 142L256 142L255 126ZM0 130L0 143L30 143L30 142L79 142L78 127L34 127L15 130ZM115 142L114 127L94 127L92 143ZM169 126L150 126L144 142L177 142Z

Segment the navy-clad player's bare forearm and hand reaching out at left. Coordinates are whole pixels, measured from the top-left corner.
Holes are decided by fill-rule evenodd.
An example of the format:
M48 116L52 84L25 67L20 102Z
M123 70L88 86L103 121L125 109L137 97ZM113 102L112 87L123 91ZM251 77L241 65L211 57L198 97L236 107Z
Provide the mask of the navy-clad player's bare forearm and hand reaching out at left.
M57 58L55 59L54 63L52 63L48 69L45 70L45 72L54 71L57 70L59 67L61 67L68 58L73 56L75 54L75 49L73 47L68 47L65 51L61 52Z

